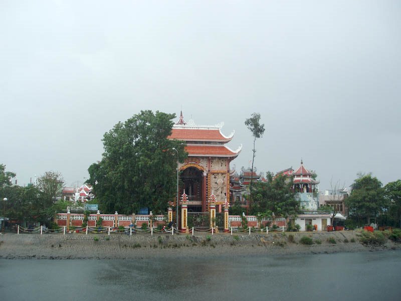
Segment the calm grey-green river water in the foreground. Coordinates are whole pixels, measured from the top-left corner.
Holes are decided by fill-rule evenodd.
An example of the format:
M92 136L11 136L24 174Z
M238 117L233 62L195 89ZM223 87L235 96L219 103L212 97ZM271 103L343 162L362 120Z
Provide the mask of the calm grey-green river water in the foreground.
M0 259L0 300L401 300L401 251Z

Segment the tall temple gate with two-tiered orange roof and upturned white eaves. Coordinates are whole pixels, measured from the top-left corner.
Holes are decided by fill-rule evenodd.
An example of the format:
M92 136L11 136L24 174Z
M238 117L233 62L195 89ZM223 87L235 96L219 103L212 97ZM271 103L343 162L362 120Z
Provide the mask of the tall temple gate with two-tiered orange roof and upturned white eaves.
M179 164L181 182L179 194L187 194L188 212L208 211L208 200L212 194L216 205L224 205L230 195L230 162L241 152L242 145L232 150L226 144L234 136L221 132L224 123L196 125L192 120L184 121L182 111L173 125L169 139L185 141L188 157Z

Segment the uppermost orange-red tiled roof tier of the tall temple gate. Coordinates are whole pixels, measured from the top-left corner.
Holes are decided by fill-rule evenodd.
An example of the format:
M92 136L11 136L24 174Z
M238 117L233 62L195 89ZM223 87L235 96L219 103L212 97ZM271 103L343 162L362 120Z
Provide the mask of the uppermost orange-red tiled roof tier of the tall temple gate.
M219 128L199 129L199 128L172 128L169 139L184 141L223 141L228 142L233 137L225 137Z

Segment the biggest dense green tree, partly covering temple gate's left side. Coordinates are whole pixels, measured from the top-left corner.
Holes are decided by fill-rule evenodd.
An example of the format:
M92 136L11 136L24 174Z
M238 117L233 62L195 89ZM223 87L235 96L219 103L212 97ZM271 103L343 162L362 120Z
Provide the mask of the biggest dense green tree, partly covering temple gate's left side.
M132 214L142 207L164 212L176 192L176 148L179 161L187 154L182 141L170 140L175 114L141 111L118 122L103 136L102 160L92 164L93 185L100 209Z

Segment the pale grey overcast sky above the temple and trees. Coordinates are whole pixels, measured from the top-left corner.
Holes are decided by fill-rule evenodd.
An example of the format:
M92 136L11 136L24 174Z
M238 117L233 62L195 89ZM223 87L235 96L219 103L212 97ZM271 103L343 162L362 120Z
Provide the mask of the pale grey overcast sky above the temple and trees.
M259 112L258 172L400 178L399 1L1 0L0 36L0 163L20 185L81 185L114 124L181 108L235 130L237 171Z

